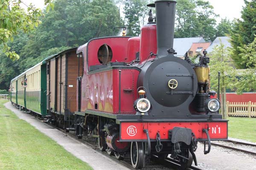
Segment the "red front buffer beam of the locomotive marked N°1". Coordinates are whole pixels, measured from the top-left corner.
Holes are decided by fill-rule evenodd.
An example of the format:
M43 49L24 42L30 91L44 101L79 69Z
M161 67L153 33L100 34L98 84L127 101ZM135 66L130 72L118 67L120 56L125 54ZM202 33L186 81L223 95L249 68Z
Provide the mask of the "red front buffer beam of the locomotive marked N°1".
M226 122L122 122L121 123L121 141L147 140L144 129L148 129L150 139L155 140L157 133L160 134L161 140L169 139L169 130L174 127L189 128L197 137L198 141L207 139L203 129L209 130L211 140L221 140L227 138ZM137 132L137 133L136 133Z

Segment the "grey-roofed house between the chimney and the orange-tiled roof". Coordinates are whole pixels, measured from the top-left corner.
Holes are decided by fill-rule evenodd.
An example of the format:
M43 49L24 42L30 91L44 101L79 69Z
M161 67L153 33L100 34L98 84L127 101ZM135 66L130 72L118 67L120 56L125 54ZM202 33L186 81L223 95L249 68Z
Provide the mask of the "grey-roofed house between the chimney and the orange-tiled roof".
M173 42L173 49L177 52L175 56L184 57L194 42L205 42L205 40L203 37L175 38Z

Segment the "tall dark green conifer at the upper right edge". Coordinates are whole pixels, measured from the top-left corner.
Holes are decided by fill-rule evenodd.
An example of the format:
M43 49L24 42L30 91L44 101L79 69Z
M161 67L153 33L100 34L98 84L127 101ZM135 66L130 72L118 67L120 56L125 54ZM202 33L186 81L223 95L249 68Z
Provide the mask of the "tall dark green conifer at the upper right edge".
M231 45L233 47L232 59L237 68L247 68L243 58L239 56L244 45L254 40L256 34L256 1L244 0L245 6L241 11L241 19L236 20L232 27Z

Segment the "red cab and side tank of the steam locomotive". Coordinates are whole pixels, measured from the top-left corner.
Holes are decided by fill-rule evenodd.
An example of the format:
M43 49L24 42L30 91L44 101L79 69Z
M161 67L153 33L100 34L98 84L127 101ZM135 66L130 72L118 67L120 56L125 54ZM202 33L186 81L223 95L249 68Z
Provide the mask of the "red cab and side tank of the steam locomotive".
M81 112L105 114L133 114L136 112L131 106L137 99L136 82L140 69L126 66L128 42L129 37L105 37L91 40L84 47L78 49L77 53L84 54L81 106L78 106L78 108L81 107ZM109 67L102 65L102 62L105 61L100 59L101 55L106 55L104 54L106 51L110 57L106 62L116 61L109 63L111 65ZM120 75L119 71L121 71ZM121 100L120 107L119 100Z

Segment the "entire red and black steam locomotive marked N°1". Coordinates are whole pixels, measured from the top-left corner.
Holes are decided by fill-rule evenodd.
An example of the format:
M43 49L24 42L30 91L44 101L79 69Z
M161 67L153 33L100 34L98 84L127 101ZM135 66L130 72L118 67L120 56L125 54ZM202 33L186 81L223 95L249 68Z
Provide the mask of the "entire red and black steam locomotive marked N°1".
M151 154L171 154L181 167L195 161L198 141L227 139L227 120L209 89L209 58L193 64L174 56L176 1L159 0L140 37L103 37L77 48L76 135L98 138L119 159L131 152L134 168ZM161 143L162 142L162 143ZM206 148L206 147L205 147ZM129 150L130 149L130 150Z

